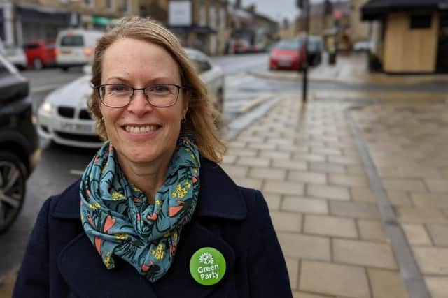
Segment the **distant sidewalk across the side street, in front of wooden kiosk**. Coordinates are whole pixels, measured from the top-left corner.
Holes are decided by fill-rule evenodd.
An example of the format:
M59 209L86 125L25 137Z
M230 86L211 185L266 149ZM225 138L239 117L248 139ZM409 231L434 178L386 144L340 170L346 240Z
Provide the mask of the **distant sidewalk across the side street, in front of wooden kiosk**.
M324 55L325 57L325 55ZM413 85L429 83L447 83L448 75L387 75L385 73L370 73L367 67L365 53L339 55L335 65L328 65L323 59L319 66L309 71L309 80L320 82L344 82L348 84L386 84ZM255 77L274 80L300 80L302 73L285 70L253 70L249 71Z

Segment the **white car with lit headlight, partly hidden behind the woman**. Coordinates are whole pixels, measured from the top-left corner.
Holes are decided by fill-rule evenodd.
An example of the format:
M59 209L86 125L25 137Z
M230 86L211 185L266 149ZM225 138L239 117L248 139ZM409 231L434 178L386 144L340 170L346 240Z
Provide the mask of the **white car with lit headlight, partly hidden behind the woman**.
M207 84L209 95L218 110L224 98L224 73L207 55L186 49L195 63L201 80ZM90 67L85 66L88 73ZM72 147L97 148L102 140L96 124L87 110L87 98L92 94L91 75L86 74L65 86L52 91L38 109L38 134L57 144Z

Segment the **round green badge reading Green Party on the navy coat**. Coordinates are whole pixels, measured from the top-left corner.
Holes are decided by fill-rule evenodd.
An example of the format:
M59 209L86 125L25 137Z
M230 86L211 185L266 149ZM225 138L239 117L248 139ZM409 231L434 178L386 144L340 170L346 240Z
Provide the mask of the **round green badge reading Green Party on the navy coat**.
M212 247L196 251L190 260L191 276L201 285L214 285L223 279L225 259L222 253Z

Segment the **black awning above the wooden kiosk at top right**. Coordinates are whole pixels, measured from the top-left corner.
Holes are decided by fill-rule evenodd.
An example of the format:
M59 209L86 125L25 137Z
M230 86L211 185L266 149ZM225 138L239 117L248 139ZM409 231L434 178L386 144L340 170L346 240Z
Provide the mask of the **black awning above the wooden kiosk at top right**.
M369 21L391 12L446 9L448 0L370 0L361 7L361 18Z

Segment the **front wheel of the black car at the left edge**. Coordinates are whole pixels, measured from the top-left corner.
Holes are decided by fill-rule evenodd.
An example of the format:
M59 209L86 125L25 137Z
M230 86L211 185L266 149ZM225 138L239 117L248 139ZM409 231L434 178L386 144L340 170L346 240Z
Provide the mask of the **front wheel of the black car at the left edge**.
M6 232L25 200L25 165L6 151L0 151L0 233Z

